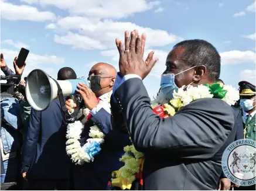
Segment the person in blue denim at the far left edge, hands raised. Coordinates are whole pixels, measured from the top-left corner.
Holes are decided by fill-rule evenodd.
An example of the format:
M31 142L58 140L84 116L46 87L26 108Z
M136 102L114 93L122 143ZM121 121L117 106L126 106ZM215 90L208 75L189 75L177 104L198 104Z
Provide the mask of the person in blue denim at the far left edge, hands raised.
M16 65L15 57L13 60L13 68L15 73L8 67L1 54L1 70L5 75L22 75L26 63L22 67ZM4 164L5 173L1 174L1 183L17 182L20 185L20 162L21 146L22 146L22 124L19 120L19 102L23 99L23 95L18 92L18 84L14 84L15 93L13 97L1 98L1 155Z

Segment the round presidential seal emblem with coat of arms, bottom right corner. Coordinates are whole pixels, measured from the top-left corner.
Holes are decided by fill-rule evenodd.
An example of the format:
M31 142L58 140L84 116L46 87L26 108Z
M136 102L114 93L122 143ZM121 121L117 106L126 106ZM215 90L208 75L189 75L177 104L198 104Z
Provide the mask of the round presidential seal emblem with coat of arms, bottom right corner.
M223 152L221 166L224 174L235 185L255 185L255 141L234 141Z

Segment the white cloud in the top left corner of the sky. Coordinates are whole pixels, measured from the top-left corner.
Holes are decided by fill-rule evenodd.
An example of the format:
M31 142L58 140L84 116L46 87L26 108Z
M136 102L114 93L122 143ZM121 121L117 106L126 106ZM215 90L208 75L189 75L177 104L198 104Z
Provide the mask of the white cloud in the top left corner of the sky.
M43 22L45 20L55 20L54 13L49 11L39 11L37 8L28 5L13 5L1 1L1 16L6 20L31 20Z

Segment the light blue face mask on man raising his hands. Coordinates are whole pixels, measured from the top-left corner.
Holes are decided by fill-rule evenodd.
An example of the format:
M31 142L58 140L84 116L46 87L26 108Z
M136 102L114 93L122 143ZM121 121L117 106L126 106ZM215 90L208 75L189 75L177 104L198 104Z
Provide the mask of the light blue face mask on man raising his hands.
M196 67L196 66L194 66L194 67ZM194 68L194 67L192 67L192 68ZM175 81L174 81L175 75L182 74L183 72L186 72L186 71L188 71L192 68L189 68L185 71L179 72L178 74L162 74L160 86L161 86L161 92L163 92L166 99L173 99L173 92L174 91L177 92L178 89L179 89L178 86L175 84ZM191 82L190 84L192 84L192 83L193 82Z

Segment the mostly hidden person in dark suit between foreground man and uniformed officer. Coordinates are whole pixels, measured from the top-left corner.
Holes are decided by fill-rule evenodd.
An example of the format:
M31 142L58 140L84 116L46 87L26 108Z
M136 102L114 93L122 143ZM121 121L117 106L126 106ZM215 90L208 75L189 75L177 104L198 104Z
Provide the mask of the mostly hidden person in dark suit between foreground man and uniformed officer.
M221 79L217 79L217 82L220 83L222 86L225 85L224 82ZM232 106L232 108L234 109L234 116L235 118L235 124L234 126L237 129L237 132L235 134L235 139L239 140L241 138L243 138L243 121L241 119L241 110L239 107L237 106ZM237 186L237 185L236 185ZM230 179L226 178L226 176L224 175L223 172L221 172L220 175L220 181L219 181L219 185L218 185L218 190L229 190L231 187L231 181Z

